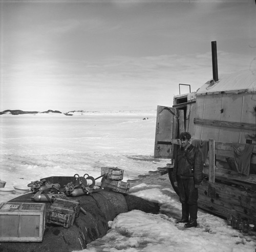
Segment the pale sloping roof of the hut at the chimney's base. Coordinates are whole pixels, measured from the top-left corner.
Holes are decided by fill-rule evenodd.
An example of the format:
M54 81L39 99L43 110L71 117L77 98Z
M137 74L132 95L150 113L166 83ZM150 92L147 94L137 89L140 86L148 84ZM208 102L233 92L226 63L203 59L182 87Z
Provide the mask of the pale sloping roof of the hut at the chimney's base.
M207 81L197 90L197 95L218 93L256 93L256 69L225 74L217 82Z

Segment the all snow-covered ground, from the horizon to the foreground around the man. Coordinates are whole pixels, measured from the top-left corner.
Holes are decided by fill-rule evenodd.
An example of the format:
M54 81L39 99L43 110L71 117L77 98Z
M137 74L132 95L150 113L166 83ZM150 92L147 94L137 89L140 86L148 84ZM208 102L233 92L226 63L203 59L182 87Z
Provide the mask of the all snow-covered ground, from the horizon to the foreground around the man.
M105 166L124 169L125 181L169 163L153 158L156 111L2 115L0 122L0 179L6 188L48 176L98 177ZM255 251L253 234L242 234L202 210L198 227L176 224L181 205L167 175L134 187L131 193L159 202L160 213L120 214L109 223L108 234L84 252ZM0 195L0 202L16 196Z

